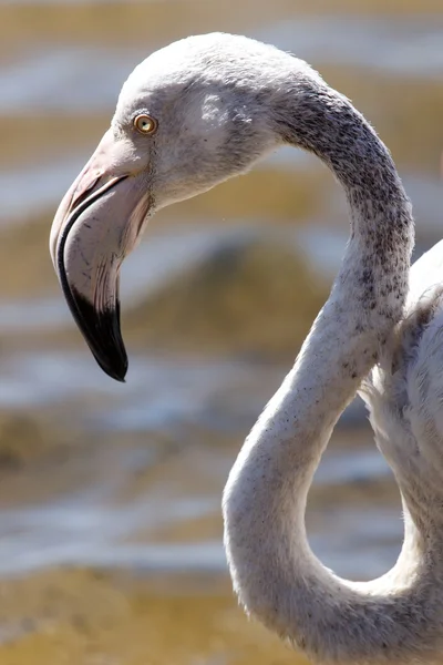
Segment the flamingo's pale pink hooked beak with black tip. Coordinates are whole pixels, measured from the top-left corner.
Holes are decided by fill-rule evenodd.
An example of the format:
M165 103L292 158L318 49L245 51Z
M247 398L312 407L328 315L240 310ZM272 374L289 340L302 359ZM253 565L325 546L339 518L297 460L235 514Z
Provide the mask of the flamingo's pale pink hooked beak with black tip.
M127 355L121 332L119 283L152 212L147 167L134 167L133 146L111 130L63 197L50 252L71 314L95 360L124 381Z

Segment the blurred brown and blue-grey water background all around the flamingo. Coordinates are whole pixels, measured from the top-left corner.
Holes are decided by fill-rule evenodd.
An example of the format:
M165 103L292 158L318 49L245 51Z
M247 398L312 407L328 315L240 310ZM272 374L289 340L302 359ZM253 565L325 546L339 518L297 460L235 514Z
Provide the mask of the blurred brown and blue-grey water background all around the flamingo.
M93 360L48 252L133 66L212 30L319 69L392 150L416 252L443 235L441 0L0 1L2 665L305 662L237 607L220 497L340 263L332 176L282 150L150 223L122 276L125 385ZM308 526L352 579L396 557L399 495L361 402L321 462Z

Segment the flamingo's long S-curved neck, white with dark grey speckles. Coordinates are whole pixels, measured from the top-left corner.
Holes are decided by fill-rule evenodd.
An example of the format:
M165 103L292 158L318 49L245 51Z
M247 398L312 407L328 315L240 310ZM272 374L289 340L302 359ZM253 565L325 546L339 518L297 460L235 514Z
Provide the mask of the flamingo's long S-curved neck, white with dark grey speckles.
M306 83L308 85L308 83ZM364 119L321 82L279 100L284 139L318 154L346 190L351 236L330 297L295 367L267 405L224 494L225 546L246 610L320 663L413 662L435 647L432 566L406 515L394 569L351 583L312 554L307 493L331 431L401 319L413 244L411 206L391 156ZM301 109L301 110L300 110ZM305 119L305 120L303 120ZM431 601L431 602L430 602ZM426 661L431 662L429 658Z

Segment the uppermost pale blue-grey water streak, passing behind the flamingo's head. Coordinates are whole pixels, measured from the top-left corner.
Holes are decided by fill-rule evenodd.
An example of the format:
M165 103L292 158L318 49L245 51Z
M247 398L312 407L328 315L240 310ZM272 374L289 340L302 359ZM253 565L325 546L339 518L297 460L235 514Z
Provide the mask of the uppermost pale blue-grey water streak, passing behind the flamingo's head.
M439 17L299 18L253 31L253 37L292 51L317 66L327 62L409 79L440 79L443 72L443 19ZM128 73L151 50L148 42L132 49L37 48L32 59L27 57L0 73L0 113L21 109L70 113L110 110Z

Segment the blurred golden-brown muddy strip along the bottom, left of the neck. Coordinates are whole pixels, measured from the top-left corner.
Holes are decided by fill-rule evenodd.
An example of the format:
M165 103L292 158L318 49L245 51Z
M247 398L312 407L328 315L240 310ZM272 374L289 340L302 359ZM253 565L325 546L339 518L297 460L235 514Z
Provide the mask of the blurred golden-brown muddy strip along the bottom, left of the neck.
M0 595L2 665L307 663L247 621L223 577L61 570L2 582Z

